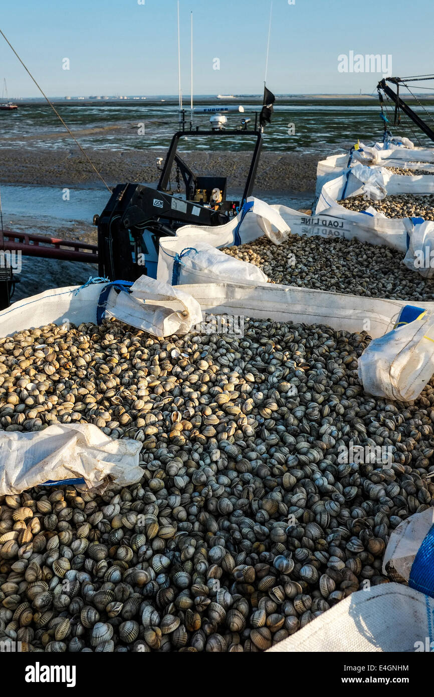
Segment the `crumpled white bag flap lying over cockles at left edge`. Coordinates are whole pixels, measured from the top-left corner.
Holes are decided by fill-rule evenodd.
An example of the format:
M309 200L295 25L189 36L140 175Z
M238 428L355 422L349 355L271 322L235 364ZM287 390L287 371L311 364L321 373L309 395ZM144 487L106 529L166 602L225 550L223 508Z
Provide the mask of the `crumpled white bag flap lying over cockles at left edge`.
M114 440L93 424L54 424L43 431L0 431L0 496L48 481L83 479L103 491L110 482L139 482L141 443Z

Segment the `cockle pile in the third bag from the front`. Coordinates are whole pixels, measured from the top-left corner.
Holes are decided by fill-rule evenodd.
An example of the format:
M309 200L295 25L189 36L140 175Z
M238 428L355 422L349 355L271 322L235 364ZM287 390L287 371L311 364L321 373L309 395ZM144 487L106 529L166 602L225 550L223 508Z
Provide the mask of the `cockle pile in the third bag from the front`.
M348 210L366 210L373 206L378 213L391 218L423 217L424 220L434 220L434 194L396 194L381 201L365 201L363 194L358 194L342 199L338 204Z

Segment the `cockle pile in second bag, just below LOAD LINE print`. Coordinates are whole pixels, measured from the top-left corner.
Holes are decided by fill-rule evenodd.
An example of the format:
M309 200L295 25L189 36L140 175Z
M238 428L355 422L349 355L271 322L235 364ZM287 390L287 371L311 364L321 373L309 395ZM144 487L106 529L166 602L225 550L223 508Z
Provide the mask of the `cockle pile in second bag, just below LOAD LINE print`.
M404 266L402 252L390 247L290 235L281 245L264 236L221 251L258 266L270 283L372 298L434 299L433 279Z

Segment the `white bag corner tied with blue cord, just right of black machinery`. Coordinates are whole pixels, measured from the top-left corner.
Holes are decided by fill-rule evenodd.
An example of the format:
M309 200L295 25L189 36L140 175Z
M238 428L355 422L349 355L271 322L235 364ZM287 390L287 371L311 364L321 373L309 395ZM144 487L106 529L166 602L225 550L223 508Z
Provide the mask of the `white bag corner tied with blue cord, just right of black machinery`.
M158 254L157 279L172 286L185 283L232 281L267 283L260 268L234 259L195 236L162 237Z

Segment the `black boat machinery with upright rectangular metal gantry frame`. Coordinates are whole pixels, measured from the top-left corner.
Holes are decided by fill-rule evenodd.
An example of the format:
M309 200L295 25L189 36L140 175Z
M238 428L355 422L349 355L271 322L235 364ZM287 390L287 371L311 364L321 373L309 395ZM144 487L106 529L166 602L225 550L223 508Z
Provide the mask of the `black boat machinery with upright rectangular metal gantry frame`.
M229 213L235 211L238 201L226 201L226 177L200 176L194 174L189 165L178 154L178 144L182 137L212 136L224 138L233 136L255 137L256 143L251 158L245 189L240 207L245 204L254 190L259 158L263 145L263 128L258 128L258 114L255 114L254 129L247 125L239 130L193 130L192 123L186 128L185 110L181 112L180 128L173 138L162 168L157 189L140 184L118 185L111 195L107 206L100 216L96 215L94 223L98 225L98 266L101 277L111 280L136 280L139 275L148 273L148 267L137 266L132 259L131 245L134 245L134 259L143 250L143 245L155 248L157 252L162 236L174 236L181 225L197 224L205 227L222 225L230 220ZM169 190L173 164L177 164L185 184L185 200L179 193ZM194 200L196 190L219 187L222 203L214 210ZM183 204L181 205L181 201ZM147 231L146 242L144 230ZM152 265L153 261L150 261Z

